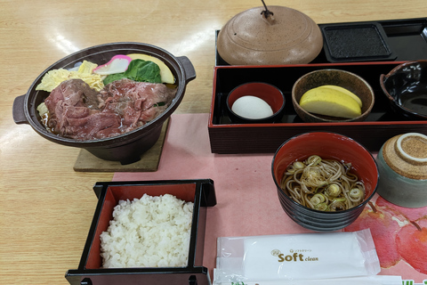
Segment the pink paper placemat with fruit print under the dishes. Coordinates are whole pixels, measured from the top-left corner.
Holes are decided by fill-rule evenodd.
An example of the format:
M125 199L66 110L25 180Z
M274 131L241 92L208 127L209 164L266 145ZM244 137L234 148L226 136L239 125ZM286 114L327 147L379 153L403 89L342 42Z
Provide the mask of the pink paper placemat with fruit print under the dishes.
M207 209L203 264L213 276L218 237L312 231L295 224L281 208L270 170L273 154L212 153L207 130L208 120L209 114L173 115L157 172L115 173L113 181L213 179L217 205ZM369 222L371 224L362 220L359 222L359 219L362 219L360 216L352 224L353 229L347 230L369 226L375 245L387 248L385 252L388 253L377 250L383 267L380 274L399 275L404 280L413 280L415 283L427 280L427 223L424 223L427 222L427 208L399 208L378 196L375 196L373 202L379 203L375 204L379 209L387 208L397 213L399 227L384 230L381 226L375 226L372 219ZM366 207L367 210L371 208ZM398 219L395 219L394 223L398 223ZM411 232L409 220L421 221L423 223L418 224L423 227L414 239L409 239L413 241L409 241L407 247L403 248L405 252L399 249L402 250L404 258L397 252L393 241L401 236L401 228L407 226L406 232ZM415 226L414 229L418 231ZM384 235L391 236L392 239L383 240L381 237ZM414 252L408 254L407 251L411 251L411 247Z

